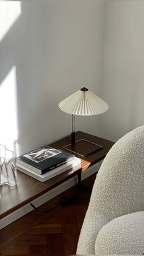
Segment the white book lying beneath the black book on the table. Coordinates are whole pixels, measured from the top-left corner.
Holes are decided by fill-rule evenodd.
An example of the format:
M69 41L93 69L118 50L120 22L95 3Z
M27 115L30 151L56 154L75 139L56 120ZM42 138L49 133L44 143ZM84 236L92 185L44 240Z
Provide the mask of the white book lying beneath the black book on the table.
M74 167L74 170L72 169L70 172L75 171L76 169L81 168L79 166L81 164L81 159L76 158L74 156L74 159L67 162L66 164L63 164L62 166L59 166L49 172L46 172L45 174L38 174L37 172L34 172L34 170L29 169L28 167L24 167L21 164L17 164L17 169L20 170L21 172L24 172L24 174L27 174L33 178L36 178L37 180L44 182L46 180L49 180L50 178L56 177L59 174L62 174L62 172L65 172L66 170L69 170Z

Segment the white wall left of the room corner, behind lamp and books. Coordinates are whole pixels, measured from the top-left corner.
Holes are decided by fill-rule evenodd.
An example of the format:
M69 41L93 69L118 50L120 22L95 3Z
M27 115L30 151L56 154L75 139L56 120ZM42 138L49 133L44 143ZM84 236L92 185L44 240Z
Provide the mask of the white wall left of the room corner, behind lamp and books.
M16 117L11 111L10 119L6 112L0 143L9 148L18 145L21 154L70 134L71 117L58 107L65 97L84 85L100 96L104 2L47 0L20 4L20 16L0 42L0 85L9 88L13 79L16 87ZM1 6L0 2L0 10ZM9 89L7 93L12 98ZM10 109L12 99L7 100L7 93L2 98ZM3 104L0 107L5 111ZM17 133L15 142L12 130ZM99 135L99 117L77 117L76 130Z

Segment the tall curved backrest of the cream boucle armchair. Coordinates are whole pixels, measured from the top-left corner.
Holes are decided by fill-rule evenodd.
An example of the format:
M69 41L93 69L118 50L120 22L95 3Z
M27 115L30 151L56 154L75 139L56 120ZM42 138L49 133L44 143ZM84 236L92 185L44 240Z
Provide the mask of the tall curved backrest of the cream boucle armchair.
M95 254L99 230L112 219L144 210L144 126L110 149L93 185L77 254Z

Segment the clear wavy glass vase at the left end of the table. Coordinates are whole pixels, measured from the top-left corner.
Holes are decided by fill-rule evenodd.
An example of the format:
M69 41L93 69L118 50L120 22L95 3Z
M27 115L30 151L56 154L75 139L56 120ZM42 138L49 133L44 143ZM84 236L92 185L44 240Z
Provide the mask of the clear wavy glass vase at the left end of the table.
M0 144L0 186L16 185L16 154Z

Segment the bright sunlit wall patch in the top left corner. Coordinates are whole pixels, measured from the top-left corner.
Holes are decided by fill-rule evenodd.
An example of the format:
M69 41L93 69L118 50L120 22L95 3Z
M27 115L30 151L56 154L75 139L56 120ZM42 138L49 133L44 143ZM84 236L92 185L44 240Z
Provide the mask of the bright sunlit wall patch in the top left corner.
M0 1L0 42L20 15L20 1Z

